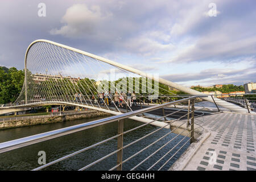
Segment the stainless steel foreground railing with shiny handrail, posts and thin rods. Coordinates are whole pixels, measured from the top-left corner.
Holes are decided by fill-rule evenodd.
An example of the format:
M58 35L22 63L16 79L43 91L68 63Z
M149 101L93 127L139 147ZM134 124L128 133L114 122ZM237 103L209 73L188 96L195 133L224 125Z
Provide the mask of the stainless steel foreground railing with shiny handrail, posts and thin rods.
M86 166L80 168L80 170L85 170L85 169L87 169L89 167L92 167L95 164L101 162L102 160L104 160L106 158L109 158L110 156L112 156L114 154L117 154L117 165L115 165L112 168L110 168L110 170L114 170L114 169L121 170L123 163L129 162L129 160L134 158L134 156L137 156L137 155L141 154L141 152L146 150L148 147L154 145L155 143L159 142L159 140L167 137L167 135L170 135L171 133L177 134L176 137L171 138L170 140L168 140L166 144L164 144L163 146L159 147L156 151L152 152L151 155L147 156L146 159L142 160L136 166L131 168L131 170L134 170L134 169L138 168L138 166L140 166L142 163L146 162L146 160L150 159L151 156L155 155L156 152L160 151L168 143L174 142L174 140L178 136L183 135L184 136L183 139L181 139L179 142L177 142L174 147L170 148L170 150L168 150L168 152L166 152L166 154L164 154L162 156L162 158L160 158L158 161L156 161L152 166L148 167L148 169L151 169L152 167L155 167L156 164L159 164L159 162L165 156L170 154L171 151L175 150L176 151L175 154L171 155L171 157L168 158L168 160L165 161L162 166L160 166L160 168L159 168L159 170L160 170L160 169L162 169L168 163L168 161L170 161L172 158L174 158L174 156L177 154L177 152L179 152L181 150L181 148L183 148L185 146L185 144L187 144L188 142L194 142L195 139L196 139L195 135L199 135L203 131L203 127L201 127L200 125L197 125L195 127L195 119L197 119L195 117L195 111L196 111L196 109L195 109L195 99L197 97L198 96L192 96L192 97L184 98L184 99L179 100L179 101L167 102L167 103L164 103L164 104L161 104L161 105L155 105L155 106L147 107L145 109L131 111L129 113L123 113L123 114L120 114L120 115L114 115L114 116L109 117L109 118L98 119L96 121L92 121L92 122L88 122L88 123L82 123L80 125L65 127L63 129L59 129L59 130L48 131L47 133L32 135L30 137L25 137L25 138L20 138L20 139L16 139L16 140L11 140L9 142L0 143L0 153L11 151L11 150L14 150L16 148L20 148L20 147L24 147L24 146L29 146L29 145L34 144L34 143L43 142L43 141L46 141L46 140L49 140L49 139L52 139L52 138L61 137L61 136L64 136L64 135L75 133L77 131L82 131L82 130L86 130L86 129L89 129L89 128L92 128L92 127L96 127L96 126L100 126L100 125L105 125L106 123L117 121L118 122L118 134L117 135L114 135L113 137L110 137L108 139L105 139L105 140L102 140L102 141L100 141L98 143L95 143L92 146L88 146L88 147L82 148L79 151L76 151L76 152L73 152L72 154L63 156L62 158L56 159L56 160L54 160L52 162L44 164L43 166L40 166L40 167L35 168L33 170L40 170L40 169L46 168L48 166L51 166L52 164L60 162L60 161L62 161L64 159L68 159L71 156L80 154L81 152L89 150L90 148L96 147L96 146L98 146L98 145L100 145L102 143L108 142L109 140L113 140L113 139L117 139L117 145L118 145L117 150L111 152L108 155L103 156L102 158L100 158L100 159L98 159L98 160L96 160L96 161L94 161L94 162L92 162L90 164L87 164ZM199 97L205 97L205 96L199 96ZM190 105L187 106L188 108L187 107L183 107L181 109L178 109L174 113L163 115L162 117L157 118L157 119L153 119L150 122L144 123L141 126L135 127L133 129L130 129L130 130L127 130L127 131L123 130L123 122L124 122L123 119L125 119L125 118L131 118L131 117L134 117L136 115L141 115L143 113L146 113L148 111L154 111L156 109L161 109L161 108L164 108L164 107L166 107L168 105L177 104L177 103L184 102L184 101L189 101L190 102ZM172 119L171 121L164 121L164 124L161 127L158 127L156 130L152 131L151 133L148 133L148 134L144 135L142 138L134 140L133 142L131 142L129 144L126 144L126 146L123 146L123 137L125 137L125 135L127 133L130 133L131 131L137 130L137 129L141 128L141 127L150 125L153 122L163 121L162 119L170 117L170 115L175 114L178 111L184 110L185 108L187 108L187 113L186 114L181 115L177 119ZM174 125L174 123L175 123L175 125ZM158 131L166 128L166 127L169 127L169 128L172 127L171 131L169 131L167 134L164 134L162 137L156 139L154 142L148 144L147 147L144 147L142 150L139 150L135 154L129 156L129 158L123 159L123 149L133 145L134 143L137 143L137 142L141 141L142 139L144 139L144 138L146 138L146 137L148 137L148 136L150 136L150 135L152 135L152 134L154 134L154 133L156 133L156 132L158 132ZM182 143L182 142L184 142L184 144L181 147L177 148L179 146L179 144Z

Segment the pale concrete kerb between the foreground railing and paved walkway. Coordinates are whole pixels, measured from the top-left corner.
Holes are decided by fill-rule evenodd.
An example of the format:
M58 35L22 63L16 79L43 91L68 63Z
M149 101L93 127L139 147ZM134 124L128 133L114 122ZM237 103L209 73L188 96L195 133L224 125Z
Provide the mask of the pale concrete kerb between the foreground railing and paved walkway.
M192 159L192 157L196 154L197 150L199 150L201 144L210 136L210 131L204 129L203 134L197 139L197 142L192 143L187 150L176 160L174 164L168 169L168 171L183 171L183 169L187 166L188 162Z

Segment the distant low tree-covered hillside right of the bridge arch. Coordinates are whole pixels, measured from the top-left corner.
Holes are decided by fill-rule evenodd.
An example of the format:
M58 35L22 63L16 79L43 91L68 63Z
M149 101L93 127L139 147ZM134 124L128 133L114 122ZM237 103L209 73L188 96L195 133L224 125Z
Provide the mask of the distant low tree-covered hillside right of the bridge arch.
M221 93L229 93L229 92L236 92L236 91L245 91L245 88L240 85L236 86L233 84L223 85L222 88L203 88L201 86L195 86L192 89L197 90L199 92L211 92L211 91L220 91Z

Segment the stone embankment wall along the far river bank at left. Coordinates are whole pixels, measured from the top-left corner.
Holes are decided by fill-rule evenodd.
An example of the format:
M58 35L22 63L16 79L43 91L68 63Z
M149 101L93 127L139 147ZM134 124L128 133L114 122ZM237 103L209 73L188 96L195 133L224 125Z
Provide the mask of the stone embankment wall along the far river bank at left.
M110 114L104 113L97 110L86 110L74 113L63 113L62 115L44 115L44 117L37 118L16 118L14 121L4 121L0 122L0 130L11 129L15 127L25 127L34 125L46 125L49 123L57 123L64 121L73 121L76 119L94 118L94 117L104 117Z

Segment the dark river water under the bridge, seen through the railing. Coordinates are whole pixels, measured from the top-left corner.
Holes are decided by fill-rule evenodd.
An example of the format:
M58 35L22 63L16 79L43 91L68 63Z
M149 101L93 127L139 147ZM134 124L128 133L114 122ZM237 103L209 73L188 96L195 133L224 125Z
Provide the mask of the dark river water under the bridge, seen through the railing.
M78 125L80 123L89 122L100 118L102 117L1 130L0 143L13 139L27 137L30 135L44 133L51 130L60 129L63 127ZM126 131L142 124L143 123L131 119L125 119L124 130ZM158 129L158 127L148 125L124 135L123 146L143 137L148 133L151 133L156 129ZM139 150L142 150L142 148L148 146L148 144L154 142L156 139L162 137L169 131L170 130L168 129L162 129L150 135L150 137L142 139L138 143L135 143L125 148L123 150L123 160L127 159L129 156L135 154ZM88 147L94 143L100 142L101 140L113 137L116 134L117 122L113 122L106 125L97 126L92 129L79 131L77 133L69 134L63 137L51 139L45 142L32 144L31 146L26 146L13 151L5 152L0 154L0 170L31 170L40 166L38 164L38 159L40 157L38 156L39 151L46 152L46 163L48 163L65 155L71 154L72 152ZM133 168L148 155L152 154L152 152L156 151L160 146L163 146L163 144L167 143L171 138L175 136L176 134L167 135L167 137L161 139L156 144L147 148L146 150L141 152L141 154L124 163L123 170L129 170ZM183 136L178 136L177 138L175 138L174 141L167 144L166 147L157 152L141 166L136 168L136 170L146 170L147 168L149 168L164 154L166 154L166 152L170 151L170 149L183 138ZM178 144L178 146L174 148L174 150L171 151L170 154L168 154L165 158L163 158L163 160L156 164L156 166L153 167L152 170L157 170L160 166L162 166L167 161L167 159L172 156L172 154L174 154L181 146L183 146L185 142L187 142L187 140L187 137L184 138L184 140L180 142L180 144ZM164 166L162 169L167 170L168 168L170 168L170 166L175 162L175 160L177 160L177 158L179 158L179 156L187 149L188 146L189 142L187 142L187 144L185 144L185 146L181 148L179 152L177 152L174 158L172 158L170 162L168 162L167 165ZM82 152L81 154L72 156L71 158L65 159L62 162L53 164L52 166L49 166L43 170L77 170L115 150L117 150L117 139L110 140L109 142L101 144L100 146L94 147L88 151ZM117 155L113 155L110 156L108 159L105 159L102 162L86 170L108 170L114 167L116 163Z

